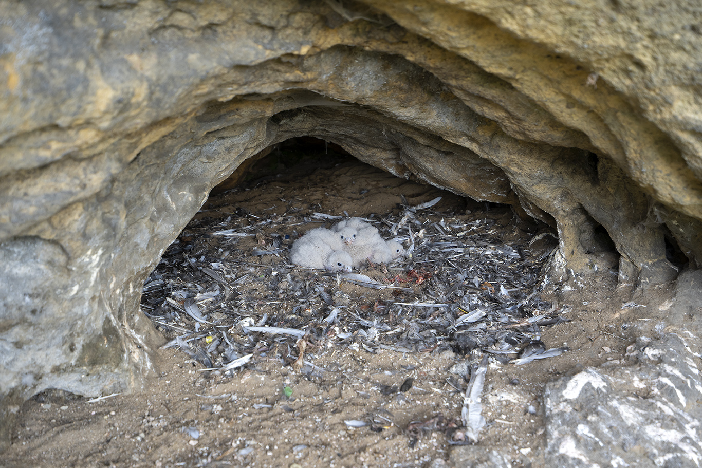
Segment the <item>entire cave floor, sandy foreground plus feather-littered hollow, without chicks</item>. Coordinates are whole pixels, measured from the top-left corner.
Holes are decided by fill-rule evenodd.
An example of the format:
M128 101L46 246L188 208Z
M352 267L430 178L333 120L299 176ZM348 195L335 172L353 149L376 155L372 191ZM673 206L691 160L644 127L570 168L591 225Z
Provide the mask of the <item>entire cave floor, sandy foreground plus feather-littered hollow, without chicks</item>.
M167 340L159 375L99 401L35 396L4 464L437 468L498 450L539 467L545 383L631 363L630 345L665 314L669 288L633 295L613 271L555 281L554 233L509 207L321 157L282 168L274 152L211 196L145 285L143 311ZM289 265L297 236L346 214L413 246L362 269L378 289ZM517 365L539 338L569 350ZM487 424L461 445L481 348Z

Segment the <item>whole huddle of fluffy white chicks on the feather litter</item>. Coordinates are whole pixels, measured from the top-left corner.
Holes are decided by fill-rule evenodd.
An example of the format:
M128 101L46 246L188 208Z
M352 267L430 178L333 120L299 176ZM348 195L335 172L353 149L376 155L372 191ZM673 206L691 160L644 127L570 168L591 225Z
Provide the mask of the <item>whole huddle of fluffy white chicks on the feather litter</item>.
M300 237L290 250L290 260L300 267L350 272L366 260L389 263L404 254L397 241L385 241L376 227L361 220L342 220L331 229L317 227Z

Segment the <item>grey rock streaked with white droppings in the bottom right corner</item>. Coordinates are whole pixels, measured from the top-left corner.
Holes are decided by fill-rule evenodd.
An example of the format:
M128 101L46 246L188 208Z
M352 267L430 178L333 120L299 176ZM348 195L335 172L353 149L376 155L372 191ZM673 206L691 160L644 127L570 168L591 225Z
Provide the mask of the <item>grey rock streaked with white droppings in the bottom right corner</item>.
M681 276L672 316L695 312L700 286L699 272ZM640 337L630 347L634 366L586 368L551 382L546 466L698 467L702 340L695 330L676 324L660 337Z

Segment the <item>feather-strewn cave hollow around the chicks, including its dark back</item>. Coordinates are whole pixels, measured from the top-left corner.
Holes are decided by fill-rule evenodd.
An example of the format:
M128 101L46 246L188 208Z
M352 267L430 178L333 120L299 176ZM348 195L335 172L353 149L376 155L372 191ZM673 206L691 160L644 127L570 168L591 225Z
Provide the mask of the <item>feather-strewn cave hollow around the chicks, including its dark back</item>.
M508 363L541 343L541 327L567 320L541 297L554 282L554 229L406 177L317 138L268 147L220 182L166 249L143 311L167 347L217 375L256 368L263 353L317 378L324 372L305 356L324 352L320 342L369 352L489 348ZM349 216L411 255L354 274L291 265L295 239Z

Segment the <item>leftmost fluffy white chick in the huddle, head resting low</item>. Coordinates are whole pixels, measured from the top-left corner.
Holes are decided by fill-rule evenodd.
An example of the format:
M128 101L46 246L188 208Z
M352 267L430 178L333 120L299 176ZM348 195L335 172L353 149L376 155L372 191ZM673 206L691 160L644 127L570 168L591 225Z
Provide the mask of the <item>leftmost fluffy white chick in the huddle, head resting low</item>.
M312 229L293 243L290 261L300 267L350 272L353 260L343 247L347 246L349 239L352 243L355 235L356 230L351 228L343 232L332 232L323 227Z

